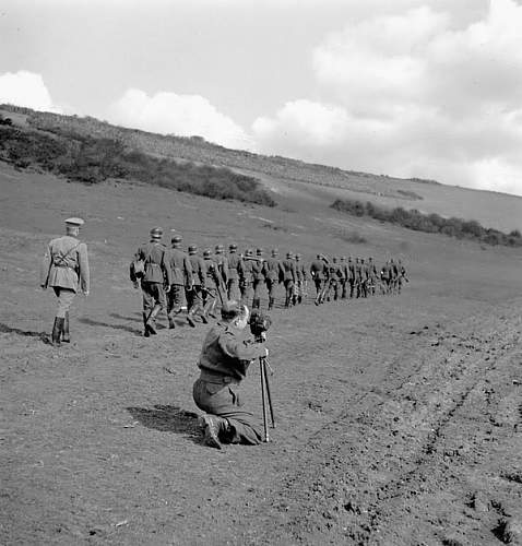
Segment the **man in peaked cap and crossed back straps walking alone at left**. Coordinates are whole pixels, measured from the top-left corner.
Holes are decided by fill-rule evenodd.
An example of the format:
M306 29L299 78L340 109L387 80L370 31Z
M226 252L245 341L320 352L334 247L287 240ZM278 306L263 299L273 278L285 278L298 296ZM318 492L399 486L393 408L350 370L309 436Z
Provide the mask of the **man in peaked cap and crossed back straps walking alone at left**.
M69 309L79 290L88 296L90 270L87 247L78 239L82 218L66 219L66 235L52 239L41 261L40 286L52 287L58 309L52 325L51 345L70 343Z

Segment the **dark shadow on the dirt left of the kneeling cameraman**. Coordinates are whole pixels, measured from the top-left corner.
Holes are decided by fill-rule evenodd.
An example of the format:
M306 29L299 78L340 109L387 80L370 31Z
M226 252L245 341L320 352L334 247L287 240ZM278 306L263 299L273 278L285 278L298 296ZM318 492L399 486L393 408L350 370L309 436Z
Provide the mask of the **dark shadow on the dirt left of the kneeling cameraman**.
M193 412L187 412L179 406L159 404L153 407L128 407L127 411L146 428L185 435L194 443L202 442L198 414Z

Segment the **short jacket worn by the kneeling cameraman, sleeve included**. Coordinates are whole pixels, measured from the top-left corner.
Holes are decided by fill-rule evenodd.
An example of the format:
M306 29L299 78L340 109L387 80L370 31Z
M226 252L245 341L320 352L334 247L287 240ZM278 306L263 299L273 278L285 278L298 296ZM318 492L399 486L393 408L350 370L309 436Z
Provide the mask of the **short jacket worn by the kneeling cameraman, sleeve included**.
M198 367L201 379L211 382L239 383L250 361L264 356L264 345L245 337L244 331L217 322L203 341Z

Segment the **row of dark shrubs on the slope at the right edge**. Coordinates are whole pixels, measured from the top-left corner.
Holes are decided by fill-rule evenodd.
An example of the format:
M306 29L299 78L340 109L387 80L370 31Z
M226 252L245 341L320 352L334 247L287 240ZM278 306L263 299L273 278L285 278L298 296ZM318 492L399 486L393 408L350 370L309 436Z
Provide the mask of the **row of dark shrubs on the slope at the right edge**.
M369 216L417 232L440 233L449 237L478 240L488 245L522 246L522 236L518 229L512 230L510 234L505 234L497 229L485 228L475 219L443 218L435 213L424 214L416 209L410 211L406 211L402 206L384 209L369 201L361 203L360 201L348 199L337 199L331 206L336 211L354 216Z

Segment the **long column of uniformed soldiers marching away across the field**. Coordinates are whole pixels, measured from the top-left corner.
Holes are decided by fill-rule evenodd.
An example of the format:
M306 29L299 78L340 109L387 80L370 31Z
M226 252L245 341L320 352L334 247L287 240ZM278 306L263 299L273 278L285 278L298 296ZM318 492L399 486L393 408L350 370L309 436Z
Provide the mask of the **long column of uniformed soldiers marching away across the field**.
M171 238L171 248L162 244L163 229L151 230L150 242L142 245L130 265L130 278L143 293L144 335L157 333L156 317L166 309L168 325L176 328L175 317L186 312L186 320L195 327L195 318L207 323L216 318L215 309L225 300L251 302L252 309L261 307L268 292L268 309L275 304L278 284L284 285L285 308L301 304L308 296L308 281L316 288L315 304L324 301L367 298L376 294L399 294L407 282L401 260L385 262L380 272L372 258L332 258L317 254L308 268L298 253L287 252L280 259L277 249L269 257L263 249L238 252L235 244L217 245L212 253L204 249L202 256L195 245L182 250L182 237ZM250 299L251 298L251 299Z

